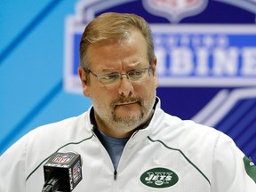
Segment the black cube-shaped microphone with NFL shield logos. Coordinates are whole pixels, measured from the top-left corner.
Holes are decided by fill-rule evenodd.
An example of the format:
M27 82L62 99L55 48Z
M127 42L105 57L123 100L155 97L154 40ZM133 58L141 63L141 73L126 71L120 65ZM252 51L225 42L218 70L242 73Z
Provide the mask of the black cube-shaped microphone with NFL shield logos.
M82 179L81 156L74 152L56 152L44 164L42 192L71 192Z

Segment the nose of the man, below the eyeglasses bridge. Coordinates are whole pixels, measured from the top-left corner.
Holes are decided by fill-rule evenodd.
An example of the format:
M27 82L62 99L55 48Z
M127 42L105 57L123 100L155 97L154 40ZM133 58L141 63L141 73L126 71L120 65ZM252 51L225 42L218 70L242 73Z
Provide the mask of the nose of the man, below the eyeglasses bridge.
M122 74L118 93L124 97L127 97L127 96L131 96L132 92L133 92L132 81L129 79L127 74Z

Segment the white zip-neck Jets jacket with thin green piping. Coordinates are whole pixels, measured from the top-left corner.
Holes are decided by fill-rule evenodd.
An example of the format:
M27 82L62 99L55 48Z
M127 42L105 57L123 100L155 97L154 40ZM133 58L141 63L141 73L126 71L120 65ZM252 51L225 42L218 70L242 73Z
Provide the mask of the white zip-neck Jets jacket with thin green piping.
M115 179L108 152L93 133L91 109L38 127L12 145L0 158L0 192L42 191L43 165L55 151L82 156L83 180L74 192L256 191L256 168L233 140L164 113L159 102L148 127L125 145Z

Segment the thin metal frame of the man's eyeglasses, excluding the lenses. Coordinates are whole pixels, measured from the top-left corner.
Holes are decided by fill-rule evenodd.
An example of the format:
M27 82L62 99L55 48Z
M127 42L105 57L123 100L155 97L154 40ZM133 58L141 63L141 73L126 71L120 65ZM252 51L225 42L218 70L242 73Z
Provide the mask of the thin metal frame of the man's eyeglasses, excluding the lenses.
M132 79L130 78L129 73L134 72L134 71L140 71L140 70L145 70L145 71L148 70L148 79L149 79L149 77L150 77L150 71L152 71L151 66L149 66L149 68L137 68L137 69L132 69L132 70L126 72L126 73L113 72L113 73L102 74L102 75L97 75L97 74L95 74L94 72L92 72L92 70L91 70L90 68L87 68L87 73L88 73L88 75L89 75L90 73L92 73L92 75L97 78L97 80L98 80L98 82L99 82L99 84L100 84L101 86L111 86L111 85L118 84L118 83L120 82L120 80L122 79L122 76L124 76L124 75L125 75L125 76L127 77L127 79L129 79L131 82L143 82L143 81L148 80L148 79L145 79L145 80L142 80L142 81L140 81L140 80L135 80L135 81L134 81L134 80L132 80ZM100 76L110 76L110 75L114 75L114 74L118 74L118 75L119 75L118 81L116 81L116 83L114 83L114 84L103 84L102 82L100 83L100 80L99 80L99 77L100 77Z

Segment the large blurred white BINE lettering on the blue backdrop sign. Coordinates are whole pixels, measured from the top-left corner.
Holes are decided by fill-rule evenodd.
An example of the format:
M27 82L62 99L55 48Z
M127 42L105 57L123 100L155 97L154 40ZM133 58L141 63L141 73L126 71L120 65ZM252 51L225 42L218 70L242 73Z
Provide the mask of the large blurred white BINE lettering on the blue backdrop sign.
M158 76L256 76L256 47L158 45L155 53Z

